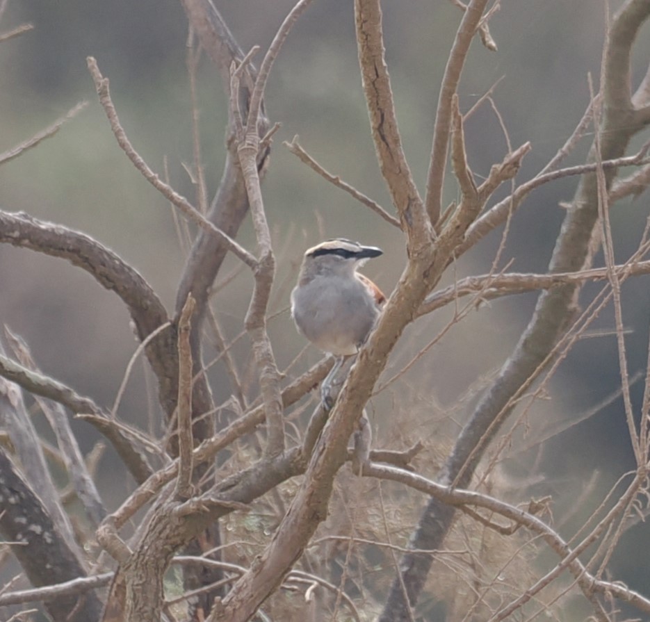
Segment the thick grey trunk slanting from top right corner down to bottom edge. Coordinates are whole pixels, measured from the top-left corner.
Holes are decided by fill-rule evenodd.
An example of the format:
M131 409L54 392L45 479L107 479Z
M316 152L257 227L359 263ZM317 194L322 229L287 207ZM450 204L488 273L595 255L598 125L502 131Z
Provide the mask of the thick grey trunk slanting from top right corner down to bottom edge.
M636 19L632 30L628 19L630 15L635 15ZM628 0L615 17L612 36L607 44L603 74L606 101L619 101L619 96L612 93L620 86L617 76L620 76L621 71L624 75L629 72L629 67L621 67L621 59L630 58L629 49L635 35L649 16L650 0ZM621 19L626 24L625 28L618 25ZM626 33L628 38L625 39L621 33ZM627 51L618 50L614 53L612 48L615 47L626 47ZM633 122L629 108L609 107L603 124L598 129L601 159L609 160L623 156L632 136L640 129L642 125ZM593 154L591 159L595 159ZM606 189L610 188L615 173L615 168L605 171ZM576 272L585 267L589 258L592 231L598 219L598 201L596 175L587 174L580 180L572 206L562 224L562 231L549 265L550 272ZM503 364L496 381L483 395L463 427L440 475L443 482L453 481L461 488L467 486L482 453L512 409L512 395L516 394L521 386L530 383L542 370L549 352L567 329L579 288L579 284L569 283L540 295L533 318L517 347ZM462 477L458 477L460 473ZM419 525L412 535L412 548L441 548L454 514L453 508L432 498L421 514ZM430 555L418 555L414 552L403 557L400 562L400 575L393 580L380 621L397 622L409 619L409 603L416 602L419 597L431 564Z

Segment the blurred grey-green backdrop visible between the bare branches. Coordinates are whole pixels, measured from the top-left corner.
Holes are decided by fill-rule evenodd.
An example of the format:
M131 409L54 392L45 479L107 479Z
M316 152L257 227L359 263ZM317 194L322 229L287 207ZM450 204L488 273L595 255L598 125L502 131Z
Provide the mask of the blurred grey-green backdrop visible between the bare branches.
M265 50L293 6L293 0L214 1L245 50L254 44ZM614 10L619 3L610 5ZM398 120L421 193L439 83L459 19L460 11L446 0L384 3ZM0 151L26 140L76 102L85 99L90 104L54 138L1 167L0 208L26 211L94 236L131 263L172 311L186 248L179 243L168 203L117 147L97 102L86 57L95 56L111 80L113 101L134 147L159 174L167 167L174 188L193 201L195 190L184 170L184 164L192 163L192 142L187 22L180 3L10 0L0 31L22 22L31 22L33 31L0 44ZM460 86L461 109L468 111L501 80L493 97L512 147L526 141L533 145L517 178L520 181L544 166L583 115L589 101L587 76L591 74L596 84L599 77L605 23L605 3L594 0L503 0L490 22L498 51L491 53L478 42L473 44ZM646 29L635 48L635 84L650 58L647 35ZM199 108L202 154L212 193L224 160L226 105L218 74L204 60ZM334 236L382 247L384 256L365 271L387 292L405 261L403 238L396 229L318 177L282 145L299 134L302 146L330 172L341 174L392 211L368 132L350 1L318 0L304 13L277 59L266 106L271 121L282 123L263 192L278 257L270 334L279 366L286 368L305 346L288 306L306 247ZM580 142L567 163L583 161L591 136ZM467 122L466 142L479 179L507 152L489 104ZM567 178L528 198L510 227L501 267L512 261L512 270L544 272L564 215L560 203L571 199L575 188L576 179ZM457 186L450 177L445 200L456 197ZM647 215L647 195L612 209L617 261L636 249ZM444 284L488 272L501 233L492 234L460 259ZM250 222L239 240L254 250ZM228 261L222 277L236 269L236 262ZM241 332L251 288L252 279L244 271L216 295L216 314L229 339ZM597 285L587 286L583 300L590 300L598 290ZM626 281L623 295L628 366L633 375L644 373L649 337L647 277ZM397 415L407 409L419 414L419 423L406 434L408 439L423 439L439 461L444 459L481 389L517 342L535 300L536 295L520 295L491 302L452 327L407 374L373 400L375 442L389 445L397 438ZM453 309L443 310L410 327L384 382L452 317ZM99 404L113 403L136 343L120 300L86 273L34 252L0 247L0 322L31 345L44 372ZM550 399L530 409L521 444L505 463L512 481L521 482L527 493L552 494L557 514L574 511L567 533L633 467L622 402L609 400L620 387L613 326L609 308L590 338L580 340L562 363L549 386ZM238 360L248 360L245 338L238 340L234 352ZM300 373L319 357L308 348L289 375ZM213 378L217 397L227 390L222 371L218 368ZM122 418L143 427L158 416L143 390L147 385L153 388L145 376L143 366L136 366L120 407ZM637 382L633 386L637 411L642 392L643 382ZM555 434L562 427L567 429ZM81 423L76 430L82 448L89 450L97 434ZM546 436L551 438L538 442ZM128 478L115 477L115 465L117 459L109 450L99 472L109 503L123 498L132 485ZM434 460L431 474L435 466ZM593 484L593 502L572 507L576 491L587 482ZM650 562L637 543L649 536L643 525L628 532L610 566L617 579L641 591L650 578Z

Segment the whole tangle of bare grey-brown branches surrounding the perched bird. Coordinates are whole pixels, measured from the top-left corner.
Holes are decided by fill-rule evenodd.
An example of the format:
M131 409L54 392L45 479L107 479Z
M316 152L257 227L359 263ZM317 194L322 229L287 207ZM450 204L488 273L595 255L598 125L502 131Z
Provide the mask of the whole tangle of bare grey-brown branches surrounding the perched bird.
M47 587L6 591L0 594L0 607L42 600L55 620L157 621L163 616L172 619L172 603L165 600L163 578L170 566L179 564L184 569L198 565L218 571L212 575L212 583L195 585L196 591L184 596L203 597L188 614L192 619L209 622L252 619L269 596L282 584L292 582L310 586L305 594L307 599L316 587L331 591L338 600L344 601L354 619L367 619L368 614L359 612L354 600L340 587L315 573L297 571L294 565L327 516L337 474L350 459L348 441L387 366L389 355L408 325L443 306L457 306L456 321L463 309L480 300L542 290L528 328L464 425L437 481L413 472L411 463L421 445L405 452L375 450L361 465L363 477L398 482L428 498L409 547L401 551L403 557L396 563L395 577L382 603L380 620L414 619L414 606L435 557L432 551L443 548L457 511L501 534L526 530L541 539L558 557L551 571L517 596L501 603L490 619L506 619L514 614L538 598L539 592L565 570L571 573L574 584L591 603L596 619L610 619L606 603L612 598L649 613L650 598L617 582L603 580L602 574L614 544L628 525L626 516L632 509L641 507L650 468L647 419L650 390L642 405L641 423L637 424L629 398L619 295L625 279L650 272L650 262L645 259L650 242L644 237L634 256L617 265L613 259L608 218L610 202L638 193L650 179L648 145L633 156L625 155L630 140L650 123L650 70L634 94L630 84L631 47L635 34L650 18L650 0L627 0L612 18L603 55L600 92L593 94L574 135L536 177L524 183L514 180L523 158L530 152L528 142L503 154L481 183L469 166L464 136L467 115L461 113L458 85L469 47L477 36L487 49L496 49L489 33L489 19L496 13L499 3L493 2L489 7L488 0L471 0L467 4L455 2L462 9L462 17L441 83L424 196L410 172L398 129L384 58L380 1L355 1L359 65L371 133L396 215L337 175L327 172L298 144L297 138L287 145L318 174L400 229L408 259L376 329L350 368L334 409L326 415L318 405L298 442L287 430L286 410L302 400L325 377L330 361L321 361L283 387L273 343L266 329L275 255L263 205L261 178L268 165L268 152L277 125L271 126L266 118L263 96L273 63L291 27L310 0L296 3L277 31L259 69L253 63L259 50L254 48L243 54L209 0L181 2L190 24L190 41L197 40L216 64L229 93L227 161L222 185L210 206L206 201L208 193L201 172L197 131L194 132L198 185L195 206L163 181L138 154L120 124L108 79L101 74L97 61L88 58L99 102L118 144L145 179L197 227L174 313L166 311L154 290L136 270L97 240L24 213L0 212L0 242L67 259L120 296L131 313L140 339L137 354L144 353L154 370L159 382L159 402L174 432L165 446L152 441L140 430L118 420L116 407L105 409L91 398L40 373L29 358L26 346L16 338L11 340L14 356L0 354L0 413L16 459L10 459L11 452L0 448L0 495L8 500L12 494L18 494L20 502L3 504L0 529L16 543L13 550L31 583L34 586L47 584ZM5 4L0 4L0 17ZM24 26L0 35L0 41L27 30ZM195 54L192 49L190 67L195 66ZM484 101L487 99L489 96ZM84 106L86 104L75 106L47 130L0 154L0 163L52 136ZM590 124L596 137L590 161L581 166L561 168L562 159ZM457 204L445 208L442 197L448 160L460 193ZM633 166L635 172L620 178L621 166ZM507 226L530 193L555 179L570 176L580 176L578 190L567 209L547 274L514 274L498 269L495 261L487 275L468 277L447 288L438 288L449 265L490 231L504 224ZM505 199L492 202L494 193L504 183L511 184L510 193ZM257 240L256 252L236 241L238 227L249 212ZM591 268L599 245L605 250L605 266ZM210 289L227 252L250 270L254 284L243 327L257 365L259 399L252 404L245 403L236 370L227 363L233 388L231 400L237 405L239 416L216 429L211 415L218 406L213 403L205 373L202 328L211 313ZM578 313L577 295L586 281L606 281L606 286L587 309ZM465 302L465 297L469 297L469 302ZM535 396L544 391L547 379L578 336L610 302L616 311L621 392L637 469L612 507L594 521L580 539L569 543L550 521L541 517L544 505L517 507L469 488L486 448L496 439L514 407L519 405L521 411L526 411ZM463 303L466 306L462 307ZM58 491L51 483L21 391L34 395L47 414L76 496L83 503L92 528L97 530L99 545L116 564L114 573L92 572L79 549L70 521L60 509ZM64 407L97 427L136 480L136 489L110 514L92 483L92 473L70 431ZM211 465L218 452L262 425L266 434L257 459L215 480ZM505 443L505 436L495 443L493 461ZM161 466L154 466L152 456ZM202 552L213 554L214 549L219 548L218 532L216 540L210 540L208 534L215 534L214 525L218 525L220 519L234 511L246 513L252 502L298 475L302 479L286 513L275 526L273 537L250 566L225 562L215 555L212 558L179 555L181 550L197 542L202 543ZM125 527L138 511L143 511L144 517L135 533L127 535ZM38 524L40 530L54 534L47 543L49 546L44 546L44 539L36 530L27 534L23 526L26 523ZM598 553L585 562L585 551L594 544ZM47 566L43 559L48 560ZM596 559L600 559L598 564ZM103 565L98 567L104 568ZM101 614L102 603L94 590L108 582L111 587ZM229 586L229 590L219 591L223 586Z

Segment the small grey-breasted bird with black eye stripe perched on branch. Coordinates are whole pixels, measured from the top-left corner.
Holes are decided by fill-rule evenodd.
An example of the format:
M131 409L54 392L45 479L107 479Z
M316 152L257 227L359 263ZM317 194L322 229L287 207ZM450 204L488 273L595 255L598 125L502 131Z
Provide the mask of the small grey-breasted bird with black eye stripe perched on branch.
M336 361L320 385L320 398L331 409L332 380L343 360L357 354L386 302L382 290L357 272L368 259L383 254L345 238L325 240L307 249L298 283L291 292L291 316L298 332Z

